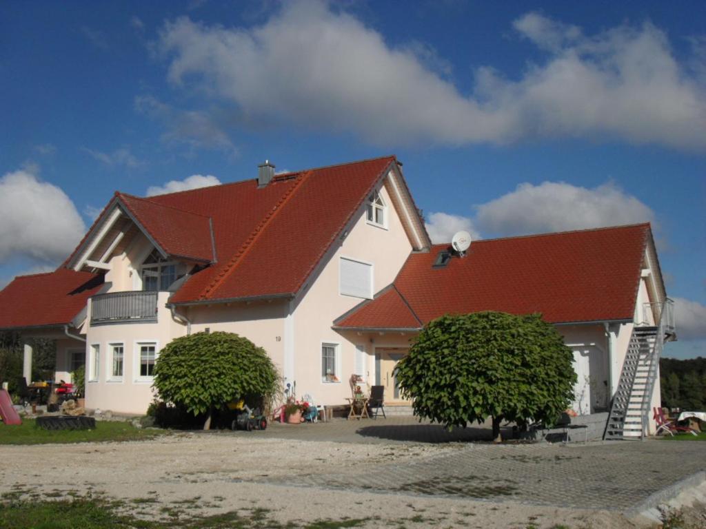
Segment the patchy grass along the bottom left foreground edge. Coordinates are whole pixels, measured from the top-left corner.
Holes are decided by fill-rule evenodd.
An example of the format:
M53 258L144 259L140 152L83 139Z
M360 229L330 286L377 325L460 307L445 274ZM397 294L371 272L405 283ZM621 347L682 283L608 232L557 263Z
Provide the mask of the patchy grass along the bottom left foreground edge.
M265 509L246 513L229 512L203 517L184 517L184 512L164 512L163 520L152 521L126 513L126 504L91 497L57 501L0 501L0 527L3 529L341 529L359 527L366 520L319 520L306 525L272 520Z

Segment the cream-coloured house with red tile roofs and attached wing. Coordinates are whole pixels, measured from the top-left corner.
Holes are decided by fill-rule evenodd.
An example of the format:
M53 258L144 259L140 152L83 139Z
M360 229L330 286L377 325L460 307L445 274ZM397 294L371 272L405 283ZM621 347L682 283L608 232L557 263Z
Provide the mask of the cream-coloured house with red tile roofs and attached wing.
M461 257L431 245L401 164L382 157L115 193L61 267L0 292L0 329L56 339L57 380L85 361L88 408L139 414L160 349L190 332L246 336L321 403L344 403L356 373L394 404L395 363L434 317L542 312L575 351L575 410L612 400L616 435L628 435L635 420L623 419L639 406L639 435L659 405L668 308L648 224L477 241ZM28 377L31 356L25 346ZM647 373L642 389L635 370Z

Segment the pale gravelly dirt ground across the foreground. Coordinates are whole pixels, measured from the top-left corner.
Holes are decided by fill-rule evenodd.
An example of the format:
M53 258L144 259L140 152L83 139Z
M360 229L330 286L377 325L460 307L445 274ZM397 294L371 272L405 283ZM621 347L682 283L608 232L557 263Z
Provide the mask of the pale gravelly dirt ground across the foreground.
M138 516L183 516L268 509L280 522L366 519L364 527L648 528L644 516L534 506L512 501L327 490L279 485L278 477L374 470L381 462L419 461L459 449L453 444L354 444L175 434L145 442L0 446L0 494L102 494ZM330 462L328 464L327 462ZM274 481L274 482L273 482ZM291 481L290 481L291 482ZM671 502L693 527L706 527L706 484ZM693 506L692 506L693 505ZM653 515L654 516L654 513Z

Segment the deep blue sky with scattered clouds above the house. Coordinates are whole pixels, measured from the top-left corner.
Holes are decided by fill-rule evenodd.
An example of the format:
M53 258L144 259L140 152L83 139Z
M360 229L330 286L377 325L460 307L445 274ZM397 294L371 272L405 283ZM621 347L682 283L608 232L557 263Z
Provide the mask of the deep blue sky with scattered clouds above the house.
M705 355L703 20L697 1L4 2L0 284L61 262L117 189L397 154L434 238L652 221L666 353Z

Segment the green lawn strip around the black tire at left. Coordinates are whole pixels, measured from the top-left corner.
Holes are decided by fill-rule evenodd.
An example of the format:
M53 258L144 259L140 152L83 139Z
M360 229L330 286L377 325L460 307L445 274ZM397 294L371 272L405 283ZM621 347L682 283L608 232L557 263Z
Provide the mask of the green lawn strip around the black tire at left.
M109 441L136 441L151 439L166 430L142 430L129 422L96 422L95 430L43 430L37 428L34 419L23 419L18 426L0 422L0 444L48 444L83 443ZM3 525L0 524L0 527Z

